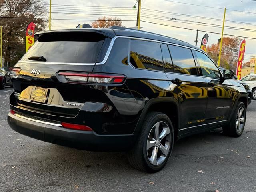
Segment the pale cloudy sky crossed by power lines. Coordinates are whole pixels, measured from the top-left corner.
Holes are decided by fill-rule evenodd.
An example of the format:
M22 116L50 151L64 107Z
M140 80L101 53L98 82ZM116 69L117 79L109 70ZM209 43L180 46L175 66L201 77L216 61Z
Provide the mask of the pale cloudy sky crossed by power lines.
M122 20L132 20L123 21L122 23L126 27L134 27L136 26L138 7L138 4L136 4L136 8L132 8L135 2L136 0L52 0L52 30L75 28L78 24L83 23L91 24L93 21L86 20L96 20L104 15L116 16ZM209 35L208 44L210 45L217 43L221 37L220 34L210 32L221 33L225 7L227 10L224 34L246 37L244 62L247 62L252 56L256 56L255 0L142 0L140 26L143 27L142 30L177 38L193 45L195 45L194 41L196 40L195 30L207 31ZM218 26L213 27L209 24ZM228 27L236 27L236 30ZM198 32L198 47L205 33Z

